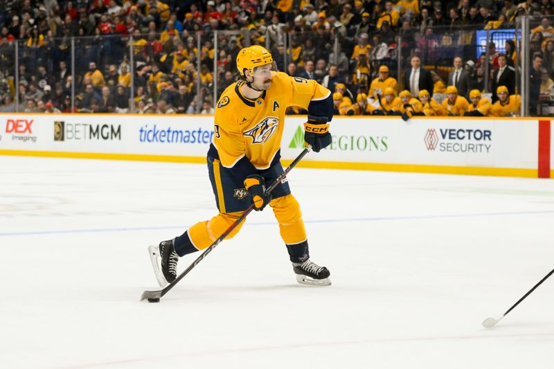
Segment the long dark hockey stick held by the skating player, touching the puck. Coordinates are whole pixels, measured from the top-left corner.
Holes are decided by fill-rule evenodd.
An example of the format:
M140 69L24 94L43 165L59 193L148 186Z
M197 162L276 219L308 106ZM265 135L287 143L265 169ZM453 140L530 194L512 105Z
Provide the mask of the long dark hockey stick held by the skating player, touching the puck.
M274 183L271 183L271 186L269 186L269 188L267 188L267 190L265 190L265 193L269 194L277 186L279 186L279 183L281 183L281 181L283 181L283 179L285 179L285 177L287 177L287 174L289 174L289 172L292 170L292 168L294 168L296 166L296 164L298 164L298 162L301 161L302 158L310 151L312 151L312 146L307 145L307 147L298 156L296 156L296 159L294 159L294 161L292 161L292 163L290 163L288 168L285 169L285 171L283 173L281 173L279 177L277 177L277 179L274 181ZM159 291L144 291L143 295L141 296L141 301L148 300L149 303L159 302L159 299L163 295L167 294L170 289L172 289L173 287L175 287L175 285L177 285L179 280L183 279L184 276L186 276L188 274L188 272L193 270L194 267L196 267L196 265L199 262L202 261L202 259L206 258L206 255L208 255L208 253L211 253L211 251L213 249L215 249L215 247L218 244L220 244L220 242L222 242L224 240L224 238L227 237L229 235L229 233L231 233L233 231L233 229L235 229L240 224L240 222L242 222L244 220L244 218L246 218L247 215L249 215L251 213L252 210L254 210L254 204L251 204L247 208L247 210L244 210L244 213L242 213L242 215L240 215L240 217L237 220L235 220L235 222L233 224L231 224L231 226L229 226L229 228L227 228L227 230L222 235L220 235L220 237L217 240L215 240L213 242L213 244L211 244L211 246L209 246L208 249L206 249L193 262L193 264L190 264L188 266L188 268L183 271L183 273L179 274L179 276L177 276L177 278L173 282L171 282L169 285L167 285L166 287L164 287L163 289L161 289Z

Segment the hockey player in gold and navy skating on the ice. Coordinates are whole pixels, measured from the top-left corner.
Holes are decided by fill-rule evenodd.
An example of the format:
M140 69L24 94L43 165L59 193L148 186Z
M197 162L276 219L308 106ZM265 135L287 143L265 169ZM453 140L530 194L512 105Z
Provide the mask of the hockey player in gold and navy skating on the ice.
M238 53L241 79L227 87L217 102L214 140L208 150L208 173L219 214L173 240L150 246L160 285L175 280L179 257L211 246L251 204L254 210L268 204L273 209L298 282L330 285L328 269L310 260L300 206L288 181L281 181L269 195L265 195L265 186L283 173L280 144L285 109L292 105L307 109L304 139L319 152L331 143L332 96L315 80L290 77L274 71L274 66L262 46L242 48Z

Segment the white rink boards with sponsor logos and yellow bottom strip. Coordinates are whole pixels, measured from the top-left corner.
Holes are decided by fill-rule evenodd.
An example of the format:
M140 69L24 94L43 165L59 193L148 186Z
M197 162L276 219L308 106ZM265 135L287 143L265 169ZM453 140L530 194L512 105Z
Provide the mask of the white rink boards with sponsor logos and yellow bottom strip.
M305 116L287 116L281 156L303 148ZM332 145L301 166L550 178L550 120L337 117ZM0 154L204 163L213 116L0 114Z

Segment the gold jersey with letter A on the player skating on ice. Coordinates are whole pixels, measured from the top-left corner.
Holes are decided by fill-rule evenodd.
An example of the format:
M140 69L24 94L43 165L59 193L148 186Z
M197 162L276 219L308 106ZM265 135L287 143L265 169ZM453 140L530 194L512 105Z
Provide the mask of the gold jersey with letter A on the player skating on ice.
M243 83L231 84L217 102L213 145L226 168L246 156L256 169L267 169L280 149L287 107L307 109L331 92L315 80L271 72L271 87L250 100L240 92Z

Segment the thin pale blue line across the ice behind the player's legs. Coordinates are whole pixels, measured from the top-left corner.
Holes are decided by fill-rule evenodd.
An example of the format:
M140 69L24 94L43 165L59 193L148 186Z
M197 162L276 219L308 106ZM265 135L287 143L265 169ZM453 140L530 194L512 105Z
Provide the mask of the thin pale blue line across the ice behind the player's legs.
M339 223L339 222L382 222L386 220L411 220L411 219L445 219L445 218L471 218L471 217L497 217L504 215L539 215L554 214L554 210L539 211L513 211L504 213L474 213L474 214L445 214L445 215L406 215L396 217L369 217L369 218L350 218L350 219L318 219L306 220L305 223ZM247 223L244 226L268 226L276 222ZM61 229L55 231L29 231L29 232L7 232L0 233L2 236L23 236L23 235L54 235L64 233L98 233L98 232L129 232L129 231L152 231L154 229L183 229L188 226L150 226L150 227L122 227L122 228L91 228L91 229Z

